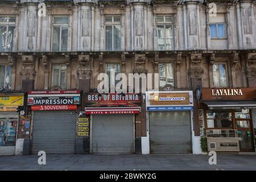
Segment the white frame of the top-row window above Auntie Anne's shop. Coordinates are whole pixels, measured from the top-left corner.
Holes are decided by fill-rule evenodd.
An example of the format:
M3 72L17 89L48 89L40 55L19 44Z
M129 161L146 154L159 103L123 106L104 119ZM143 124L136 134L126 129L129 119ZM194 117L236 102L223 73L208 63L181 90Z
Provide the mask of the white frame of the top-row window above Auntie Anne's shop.
M163 22L158 22L157 21L157 18L159 16L163 16L164 18L164 21ZM167 22L166 21L166 16L171 16L172 17L172 22ZM175 49L175 38L174 38L174 15L172 14L166 14L166 15L156 15L155 16L155 22L156 22L156 36L157 36L157 39L158 39L158 50L160 51L160 48L159 48L159 36L158 36L158 26L164 26L164 51L171 51L171 50L174 50ZM166 26L171 26L172 27L172 49L167 49L167 38L166 38ZM161 50L162 51L162 50Z

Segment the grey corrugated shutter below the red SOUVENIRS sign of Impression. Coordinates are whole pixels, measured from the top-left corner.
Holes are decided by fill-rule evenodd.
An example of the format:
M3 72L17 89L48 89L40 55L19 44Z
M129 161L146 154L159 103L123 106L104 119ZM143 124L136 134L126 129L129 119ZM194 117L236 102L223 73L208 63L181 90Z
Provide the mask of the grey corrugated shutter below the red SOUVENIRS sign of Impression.
M76 111L34 111L32 153L75 153Z

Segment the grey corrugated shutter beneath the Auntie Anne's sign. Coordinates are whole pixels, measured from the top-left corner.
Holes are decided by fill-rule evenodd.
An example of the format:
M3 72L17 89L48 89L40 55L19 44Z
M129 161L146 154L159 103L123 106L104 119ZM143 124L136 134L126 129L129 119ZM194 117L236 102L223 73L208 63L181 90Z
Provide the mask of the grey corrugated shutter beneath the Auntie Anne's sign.
M192 153L190 111L150 111L150 153Z

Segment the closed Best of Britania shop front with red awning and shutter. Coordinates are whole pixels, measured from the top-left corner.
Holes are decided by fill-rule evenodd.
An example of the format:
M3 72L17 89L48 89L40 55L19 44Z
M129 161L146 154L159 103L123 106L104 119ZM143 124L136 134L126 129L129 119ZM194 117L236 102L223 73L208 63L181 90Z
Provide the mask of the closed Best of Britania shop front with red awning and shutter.
M90 154L135 153L135 117L141 102L139 94L86 94Z

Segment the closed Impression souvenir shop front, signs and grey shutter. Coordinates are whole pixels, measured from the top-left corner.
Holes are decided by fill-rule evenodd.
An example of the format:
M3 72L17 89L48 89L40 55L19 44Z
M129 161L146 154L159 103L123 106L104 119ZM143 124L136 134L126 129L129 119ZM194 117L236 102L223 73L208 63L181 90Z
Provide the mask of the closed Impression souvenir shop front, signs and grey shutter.
M75 154L79 90L31 91L28 106L32 111L32 154Z

